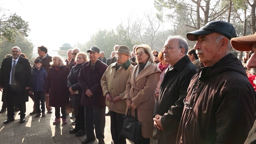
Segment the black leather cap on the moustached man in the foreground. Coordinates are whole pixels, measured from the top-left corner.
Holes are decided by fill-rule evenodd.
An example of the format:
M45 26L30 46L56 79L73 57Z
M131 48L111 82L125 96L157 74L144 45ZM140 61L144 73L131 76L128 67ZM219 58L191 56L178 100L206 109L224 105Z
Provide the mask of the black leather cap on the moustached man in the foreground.
M219 20L208 22L202 28L187 33L187 38L191 41L197 41L198 36L208 35L212 33L220 33L221 35L226 36L228 39L236 37L236 31L233 25L226 21Z

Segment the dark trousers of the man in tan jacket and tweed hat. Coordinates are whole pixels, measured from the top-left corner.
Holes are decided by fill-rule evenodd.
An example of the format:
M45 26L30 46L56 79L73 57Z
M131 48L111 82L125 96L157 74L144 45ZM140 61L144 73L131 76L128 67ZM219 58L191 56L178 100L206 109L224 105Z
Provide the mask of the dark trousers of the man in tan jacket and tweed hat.
M109 111L109 112L110 112L110 121L111 121L110 129L111 129L112 140L114 141L115 144L126 144L125 137L121 135L124 116L114 111Z

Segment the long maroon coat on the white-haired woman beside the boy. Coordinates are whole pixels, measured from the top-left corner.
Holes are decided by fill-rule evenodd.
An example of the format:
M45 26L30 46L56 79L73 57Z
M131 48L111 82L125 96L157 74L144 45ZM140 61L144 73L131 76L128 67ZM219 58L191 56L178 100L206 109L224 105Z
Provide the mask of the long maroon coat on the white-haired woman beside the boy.
M48 70L46 78L45 93L49 93L49 105L52 107L65 107L69 102L69 90L67 78L69 68L60 66L59 70L54 66Z

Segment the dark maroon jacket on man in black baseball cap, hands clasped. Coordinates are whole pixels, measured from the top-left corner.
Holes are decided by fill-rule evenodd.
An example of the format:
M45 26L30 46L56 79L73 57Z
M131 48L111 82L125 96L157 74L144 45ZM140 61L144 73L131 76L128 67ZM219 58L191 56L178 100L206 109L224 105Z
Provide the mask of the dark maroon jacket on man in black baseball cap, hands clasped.
M104 108L106 107L106 97L103 96L100 79L108 66L101 62L96 61L95 68L91 67L91 60L84 62L78 76L78 82L83 89L81 104L87 108ZM88 97L85 92L87 89L93 93Z

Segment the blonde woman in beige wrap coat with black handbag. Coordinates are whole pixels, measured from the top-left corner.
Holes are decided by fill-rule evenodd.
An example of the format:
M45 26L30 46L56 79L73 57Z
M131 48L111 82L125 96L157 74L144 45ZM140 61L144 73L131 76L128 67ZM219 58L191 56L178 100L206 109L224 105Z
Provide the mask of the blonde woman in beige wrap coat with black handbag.
M151 48L143 44L135 49L136 62L138 65L132 68L125 89L124 100L126 101L126 113L131 108L131 115L137 109L138 120L141 125L142 139L134 144L149 144L153 136L152 119L156 103L155 89L160 80L160 69L154 63Z

